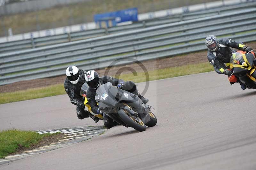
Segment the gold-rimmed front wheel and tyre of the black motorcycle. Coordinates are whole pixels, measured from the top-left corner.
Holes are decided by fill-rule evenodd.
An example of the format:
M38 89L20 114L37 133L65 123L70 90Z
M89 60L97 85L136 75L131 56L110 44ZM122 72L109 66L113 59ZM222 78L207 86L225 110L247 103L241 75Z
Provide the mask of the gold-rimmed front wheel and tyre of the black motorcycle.
M120 118L131 128L138 130L140 132L146 130L146 125L140 118L135 118L128 111L119 110L118 114Z

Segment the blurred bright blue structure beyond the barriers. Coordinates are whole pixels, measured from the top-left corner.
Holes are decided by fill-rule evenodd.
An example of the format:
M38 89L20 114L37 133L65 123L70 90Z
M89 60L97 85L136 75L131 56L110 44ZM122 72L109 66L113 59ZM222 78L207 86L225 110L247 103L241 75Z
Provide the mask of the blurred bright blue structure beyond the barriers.
M100 28L102 27L102 22L106 23L106 27L110 27L109 22L112 23L112 26L116 26L116 23L120 22L138 21L138 9L129 8L115 12L96 14L94 15L94 21L96 24L99 24Z

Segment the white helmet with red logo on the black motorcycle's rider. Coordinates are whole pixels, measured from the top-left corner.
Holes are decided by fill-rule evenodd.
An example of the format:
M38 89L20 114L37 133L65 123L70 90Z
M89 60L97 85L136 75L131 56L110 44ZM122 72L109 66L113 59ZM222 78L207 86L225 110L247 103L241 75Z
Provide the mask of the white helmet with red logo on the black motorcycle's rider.
M96 90L98 89L98 87L100 87L100 76L94 70L89 70L88 72L86 72L85 81L88 86L91 87L93 90Z

